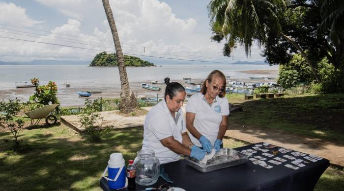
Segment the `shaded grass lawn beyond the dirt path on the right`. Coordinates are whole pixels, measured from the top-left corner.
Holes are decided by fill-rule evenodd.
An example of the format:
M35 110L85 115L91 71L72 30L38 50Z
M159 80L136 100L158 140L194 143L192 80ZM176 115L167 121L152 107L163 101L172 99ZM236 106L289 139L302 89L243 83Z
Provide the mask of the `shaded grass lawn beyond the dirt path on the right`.
M344 144L344 95L285 95L281 98L243 101L230 95L230 103L241 103L243 112L230 115L240 124L279 129Z

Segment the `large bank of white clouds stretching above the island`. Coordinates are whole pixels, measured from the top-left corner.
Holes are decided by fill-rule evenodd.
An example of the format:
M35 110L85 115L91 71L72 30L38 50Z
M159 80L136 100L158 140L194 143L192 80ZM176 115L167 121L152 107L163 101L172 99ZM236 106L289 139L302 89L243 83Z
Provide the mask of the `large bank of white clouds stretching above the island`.
M71 18L66 24L51 30L52 34L48 38L57 38L59 40L62 40L61 38L75 39L80 40L79 42L83 44L54 41L44 36L37 38L25 37L25 39L114 51L112 33L100 0L36 1L55 8ZM223 44L210 42L210 32L209 36L197 34L195 32L197 26L196 19L178 18L173 13L172 8L165 2L160 2L159 0L110 0L110 4L124 53L143 54L143 47L145 47L145 55L198 60L202 59L202 56L224 58L221 56ZM16 7L14 4L11 6ZM22 17L28 18L25 9L23 10L24 16ZM81 28L89 23L94 23L93 26L87 25L93 28L93 33L86 34ZM208 28L204 30L208 30ZM64 35L62 36L61 34ZM95 50L58 47L32 42L13 43L13 40L4 40L3 42L5 46L0 47L0 60L48 58L91 60L96 53L99 53L99 51ZM242 48L237 49L236 52L235 59L245 59ZM253 47L252 57L256 58L251 60L257 60L257 57L260 57L259 53L260 50ZM186 55L193 55L193 57Z

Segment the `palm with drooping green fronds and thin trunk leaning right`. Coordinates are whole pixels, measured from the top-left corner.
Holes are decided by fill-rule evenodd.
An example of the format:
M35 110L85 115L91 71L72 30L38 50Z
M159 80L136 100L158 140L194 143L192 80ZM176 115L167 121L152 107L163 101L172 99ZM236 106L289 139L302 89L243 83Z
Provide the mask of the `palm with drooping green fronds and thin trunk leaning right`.
M266 34L273 32L300 51L315 79L320 81L312 60L297 42L282 32L279 18L282 18L282 11L285 8L284 0L211 0L208 4L208 12L210 24L215 32L213 40L219 41L225 38L227 43L224 49L229 53L236 47L236 43L239 43L244 46L248 56L251 54L254 40L262 46L266 43Z

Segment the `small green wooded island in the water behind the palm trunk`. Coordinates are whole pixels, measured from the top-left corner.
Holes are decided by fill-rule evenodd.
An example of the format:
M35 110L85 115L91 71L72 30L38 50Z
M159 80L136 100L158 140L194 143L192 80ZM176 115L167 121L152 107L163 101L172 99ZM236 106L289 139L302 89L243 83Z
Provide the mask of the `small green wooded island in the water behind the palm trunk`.
M144 61L139 57L124 55L125 66L133 67L149 67L154 66L153 63ZM101 52L97 54L89 66L102 67L102 66L118 66L117 57L115 53L108 54L107 52Z

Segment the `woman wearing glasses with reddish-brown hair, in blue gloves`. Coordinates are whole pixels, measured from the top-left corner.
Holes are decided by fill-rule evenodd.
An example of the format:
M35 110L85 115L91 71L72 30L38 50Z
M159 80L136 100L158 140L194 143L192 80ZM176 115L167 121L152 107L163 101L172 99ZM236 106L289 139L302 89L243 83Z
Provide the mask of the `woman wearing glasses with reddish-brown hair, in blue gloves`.
M227 130L229 104L226 95L226 77L214 70L203 82L201 92L192 95L186 105L186 128L195 145L208 153L218 152Z

